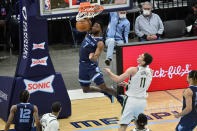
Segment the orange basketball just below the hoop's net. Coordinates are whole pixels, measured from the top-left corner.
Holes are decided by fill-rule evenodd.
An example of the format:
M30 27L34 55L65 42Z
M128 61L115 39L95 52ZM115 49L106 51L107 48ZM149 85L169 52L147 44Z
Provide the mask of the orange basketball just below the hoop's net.
M91 21L88 19L81 19L77 21L76 28L79 32L85 32L90 29Z

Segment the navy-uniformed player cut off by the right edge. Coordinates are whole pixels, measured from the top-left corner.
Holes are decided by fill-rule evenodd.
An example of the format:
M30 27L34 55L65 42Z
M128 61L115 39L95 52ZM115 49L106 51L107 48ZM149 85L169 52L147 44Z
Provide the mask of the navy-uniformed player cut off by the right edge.
M189 87L183 92L182 112L174 115L181 117L176 131L193 131L197 126L197 70L189 72L187 82Z

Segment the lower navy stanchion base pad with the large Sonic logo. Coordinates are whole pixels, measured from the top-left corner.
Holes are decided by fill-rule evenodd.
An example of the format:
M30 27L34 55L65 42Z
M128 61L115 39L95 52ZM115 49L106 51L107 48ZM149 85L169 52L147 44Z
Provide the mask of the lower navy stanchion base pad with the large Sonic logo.
M59 118L66 118L71 115L70 98L60 73L30 79L17 77L12 105L19 103L18 95L24 89L30 92L29 102L38 107L40 115L51 112L51 105L55 101L62 104Z

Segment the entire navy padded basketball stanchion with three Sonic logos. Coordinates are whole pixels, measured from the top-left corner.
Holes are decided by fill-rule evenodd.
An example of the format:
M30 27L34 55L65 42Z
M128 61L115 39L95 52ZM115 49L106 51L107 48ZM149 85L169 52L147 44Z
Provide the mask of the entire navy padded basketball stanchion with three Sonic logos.
M47 20L39 19L38 0L20 0L20 55L15 77L0 77L0 117L7 121L19 93L30 92L30 103L39 114L51 112L55 101L62 104L59 118L71 115L71 102L61 73L56 73L48 50Z

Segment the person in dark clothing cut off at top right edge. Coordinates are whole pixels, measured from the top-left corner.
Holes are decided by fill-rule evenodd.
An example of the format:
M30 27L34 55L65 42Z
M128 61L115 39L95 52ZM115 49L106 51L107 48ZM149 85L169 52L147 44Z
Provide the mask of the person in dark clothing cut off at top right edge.
M185 19L186 30L189 36L197 36L197 2L193 3L192 10Z

